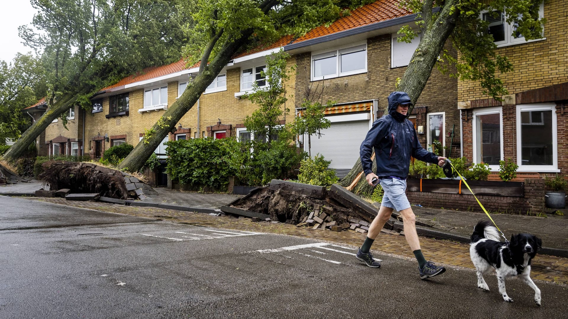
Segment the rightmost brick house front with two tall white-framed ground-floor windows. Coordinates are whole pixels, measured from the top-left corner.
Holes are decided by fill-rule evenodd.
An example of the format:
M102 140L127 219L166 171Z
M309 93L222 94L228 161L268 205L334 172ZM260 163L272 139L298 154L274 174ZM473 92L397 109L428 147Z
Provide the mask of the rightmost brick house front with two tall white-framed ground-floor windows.
M489 32L514 70L501 74L509 95L499 102L482 94L479 83L458 82L458 109L463 155L499 170L499 160L512 158L517 171L540 175L568 169L568 7L561 0L541 4L546 23L542 38L525 41L503 15L482 14Z

